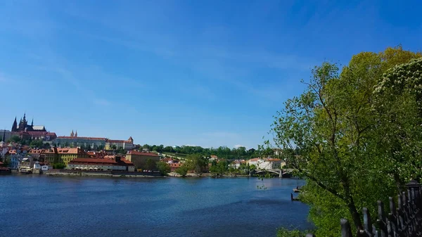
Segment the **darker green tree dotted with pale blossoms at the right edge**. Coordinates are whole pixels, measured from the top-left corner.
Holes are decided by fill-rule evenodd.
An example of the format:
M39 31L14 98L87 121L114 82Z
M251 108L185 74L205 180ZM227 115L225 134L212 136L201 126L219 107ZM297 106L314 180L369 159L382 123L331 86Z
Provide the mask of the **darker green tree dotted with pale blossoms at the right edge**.
M387 70L374 95L377 149L401 192L400 184L422 178L422 58Z

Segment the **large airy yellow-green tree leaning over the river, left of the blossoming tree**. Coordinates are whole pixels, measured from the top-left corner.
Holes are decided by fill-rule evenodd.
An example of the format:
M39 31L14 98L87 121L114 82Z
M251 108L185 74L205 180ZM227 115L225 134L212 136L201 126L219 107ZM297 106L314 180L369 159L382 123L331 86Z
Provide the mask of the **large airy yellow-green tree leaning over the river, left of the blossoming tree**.
M317 235L338 236L342 217L363 229L362 207L377 210L376 200L395 195L396 186L402 185L394 177L392 162L386 162L390 154L379 146L391 131L380 131L382 117L376 108L389 102L376 105L373 92L386 70L418 57L401 47L359 53L341 73L337 65L325 62L304 82L307 89L286 101L275 117L273 143L307 179L301 196L310 204Z

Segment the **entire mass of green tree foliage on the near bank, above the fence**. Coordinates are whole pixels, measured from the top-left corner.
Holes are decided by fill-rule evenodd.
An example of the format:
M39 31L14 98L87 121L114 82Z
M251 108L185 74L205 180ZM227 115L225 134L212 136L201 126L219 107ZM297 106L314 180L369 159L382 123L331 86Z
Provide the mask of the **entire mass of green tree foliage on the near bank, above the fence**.
M420 60L389 70L418 57L401 47L359 53L341 73L324 62L275 117L274 144L307 179L300 198L318 236L339 236L343 217L362 228L362 207L376 216L377 200L421 172Z

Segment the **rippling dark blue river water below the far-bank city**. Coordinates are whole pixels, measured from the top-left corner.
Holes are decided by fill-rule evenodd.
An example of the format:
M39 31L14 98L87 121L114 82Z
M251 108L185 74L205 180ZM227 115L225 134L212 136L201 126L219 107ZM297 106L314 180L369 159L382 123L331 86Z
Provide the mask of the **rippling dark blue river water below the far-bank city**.
M301 181L0 177L0 236L276 236L308 229ZM259 186L259 188L258 188Z

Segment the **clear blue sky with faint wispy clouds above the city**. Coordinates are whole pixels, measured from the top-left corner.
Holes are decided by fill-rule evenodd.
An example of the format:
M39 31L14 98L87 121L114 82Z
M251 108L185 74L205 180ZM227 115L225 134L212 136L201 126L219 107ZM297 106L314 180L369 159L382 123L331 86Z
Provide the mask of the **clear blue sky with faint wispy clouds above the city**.
M422 50L422 1L1 1L0 128L262 143L324 60Z

